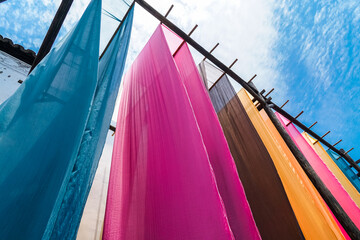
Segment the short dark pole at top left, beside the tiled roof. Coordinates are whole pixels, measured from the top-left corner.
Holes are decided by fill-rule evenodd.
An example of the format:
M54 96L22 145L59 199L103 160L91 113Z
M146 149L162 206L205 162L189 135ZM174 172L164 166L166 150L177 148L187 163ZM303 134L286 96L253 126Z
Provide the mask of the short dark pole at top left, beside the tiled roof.
M46 33L46 36L40 46L39 52L37 53L36 58L31 66L29 74L39 64L39 62L46 56L46 54L49 53L52 45L55 42L55 39L56 39L58 33L60 31L60 28L65 20L65 17L69 12L69 9L70 9L72 3L73 3L73 0L62 0L61 1L59 9L57 10L53 21L51 22L49 30Z

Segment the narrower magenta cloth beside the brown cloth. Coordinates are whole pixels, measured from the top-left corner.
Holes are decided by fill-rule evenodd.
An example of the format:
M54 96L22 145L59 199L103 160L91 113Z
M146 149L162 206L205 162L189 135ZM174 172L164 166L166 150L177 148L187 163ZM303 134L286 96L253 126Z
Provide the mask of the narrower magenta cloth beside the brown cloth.
M187 44L174 60L194 110L231 230L236 239L260 239L224 133Z

